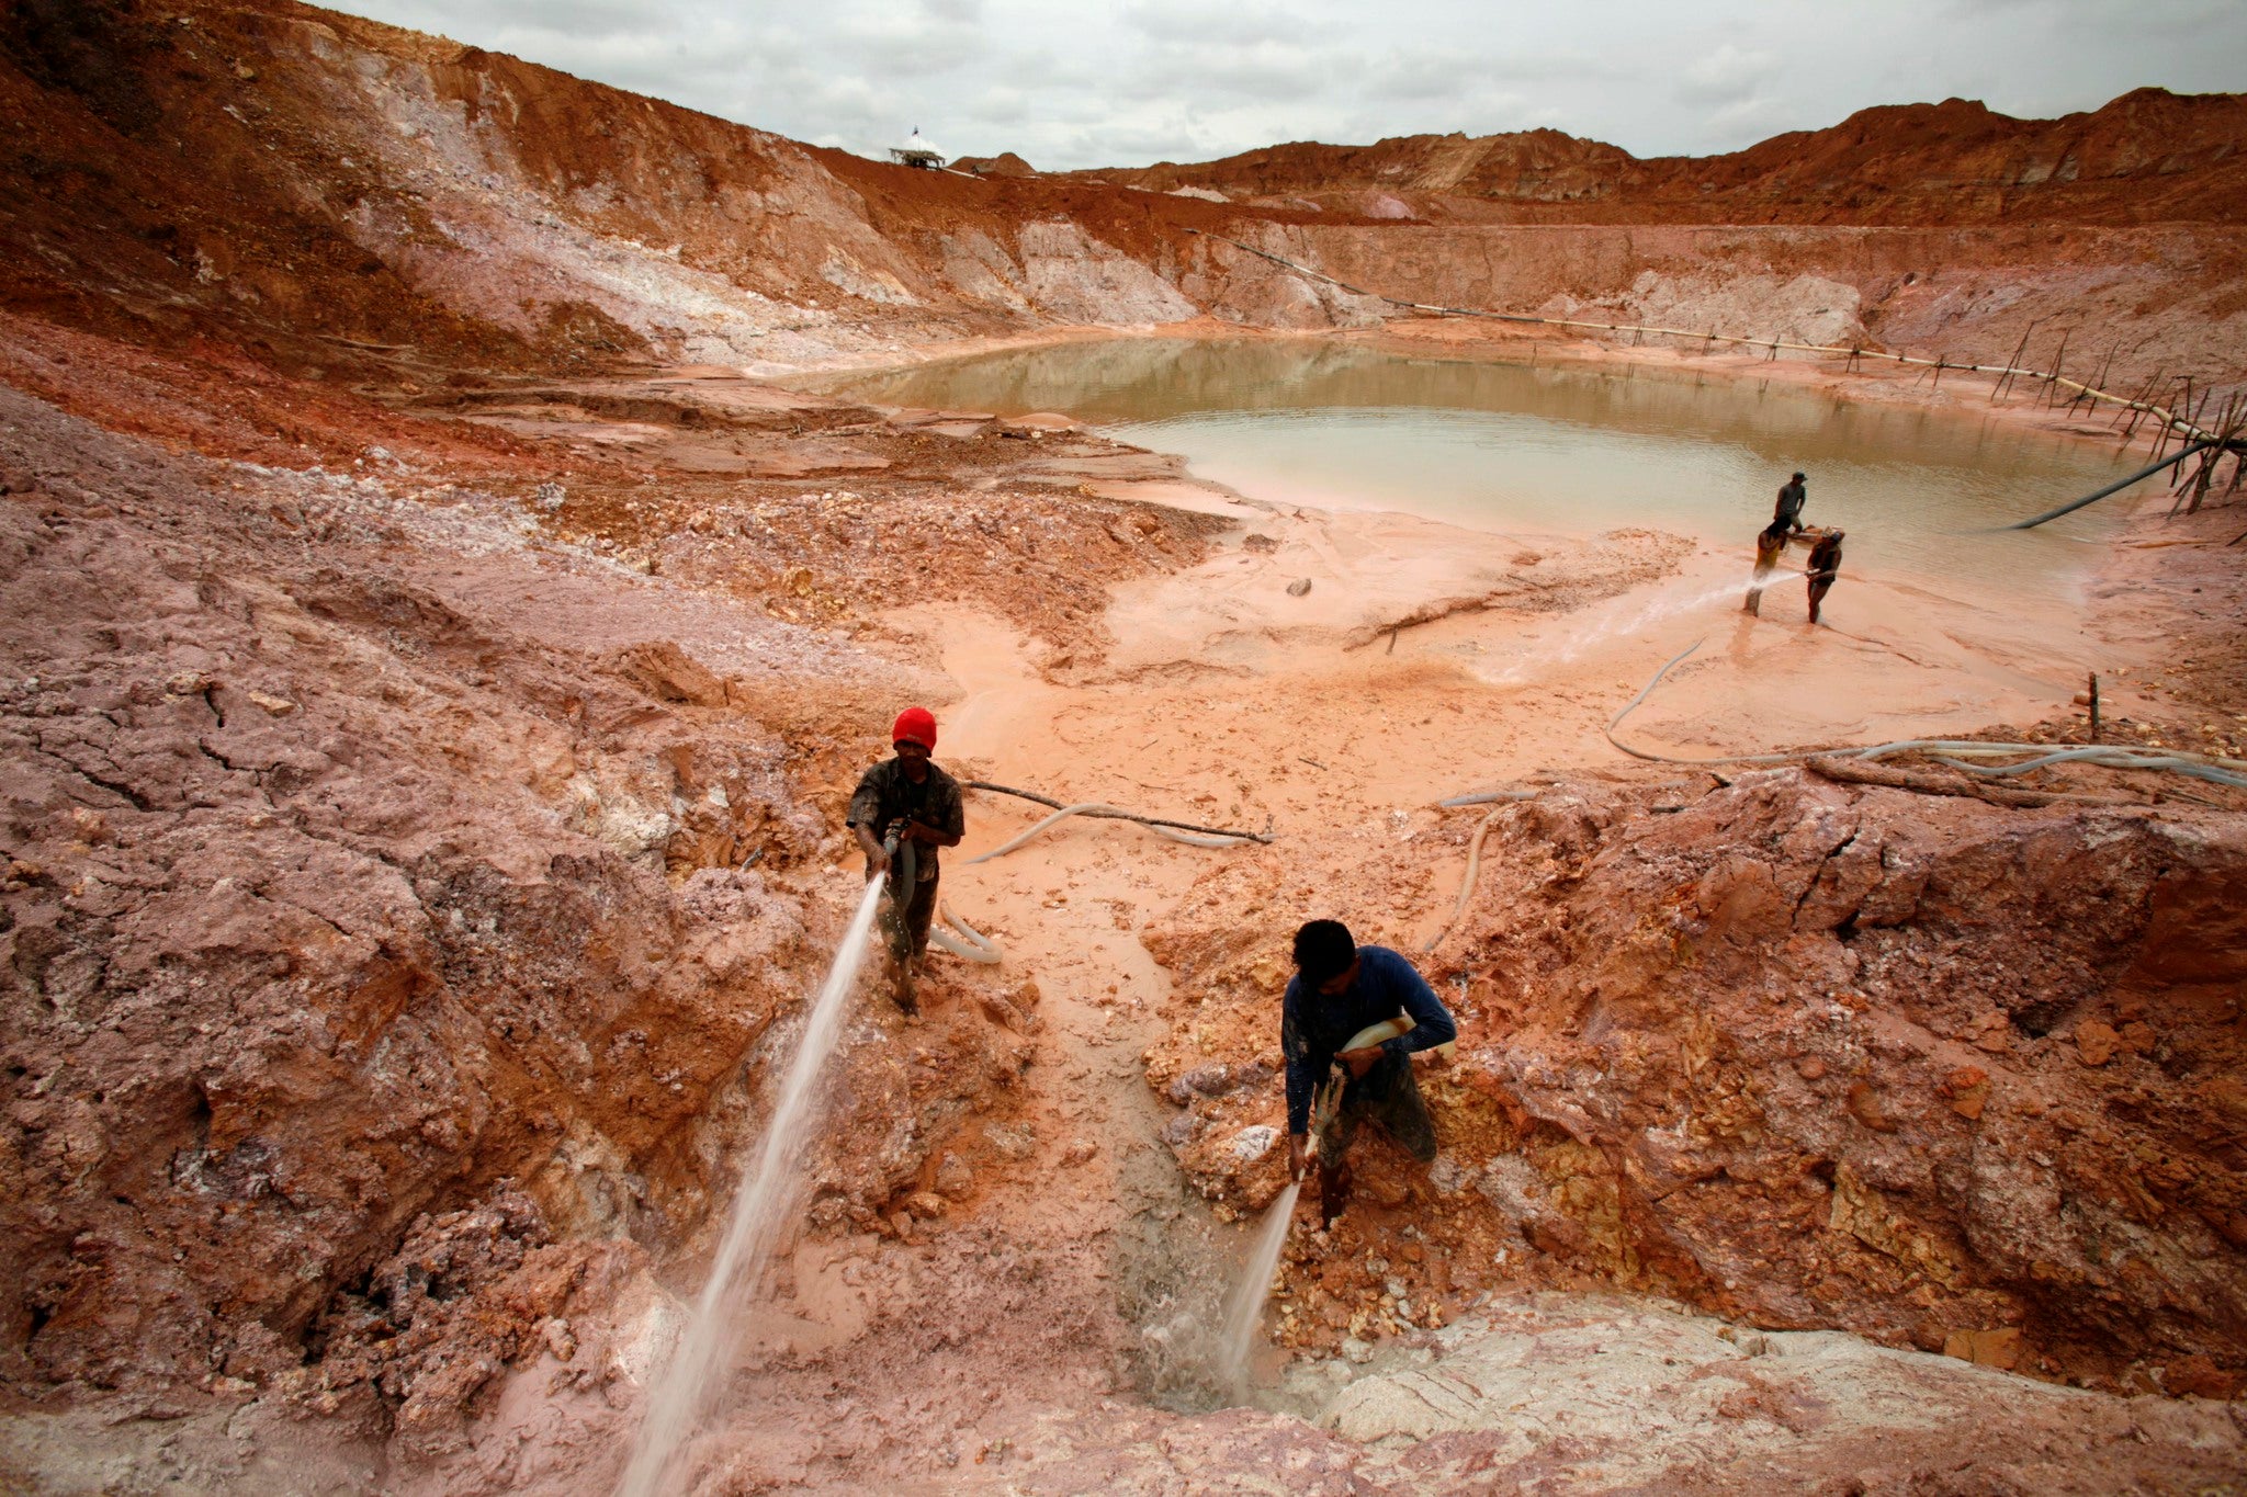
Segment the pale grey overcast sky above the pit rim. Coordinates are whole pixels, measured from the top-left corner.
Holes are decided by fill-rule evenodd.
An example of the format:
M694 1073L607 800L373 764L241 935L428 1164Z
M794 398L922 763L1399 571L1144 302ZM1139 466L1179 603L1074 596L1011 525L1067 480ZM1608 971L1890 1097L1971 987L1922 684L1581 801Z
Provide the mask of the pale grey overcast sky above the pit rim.
M2247 88L2247 0L344 0L337 9L879 155L1144 166L1550 126L1737 150L1872 103L2020 117Z

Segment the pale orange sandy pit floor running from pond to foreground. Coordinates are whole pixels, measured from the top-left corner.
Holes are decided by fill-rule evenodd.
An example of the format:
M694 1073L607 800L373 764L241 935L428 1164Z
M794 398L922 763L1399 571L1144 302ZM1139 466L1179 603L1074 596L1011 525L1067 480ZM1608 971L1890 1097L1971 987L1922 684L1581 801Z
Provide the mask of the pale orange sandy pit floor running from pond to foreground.
M742 1326L724 1412L685 1452L681 1481L715 1493L1798 1490L1863 1472L1863 1490L1908 1490L1980 1459L1982 1475L1950 1486L2112 1490L2238 1470L2240 1427L2220 1403L2121 1400L1840 1333L1766 1340L1737 1317L1649 1295L1602 1299L1595 1275L1517 1273L1508 1259L1461 1266L1440 1331L1339 1356L1267 1353L1249 1407L1222 1407L1209 1320L1245 1246L1243 1207L1180 1167L1166 1136L1177 1113L1148 1084L1157 1057L1198 1041L1200 994L1182 992L1157 952L1189 902L1231 889L1227 869L1263 860L1301 875L1227 913L1267 965L1312 916L1418 949L1449 925L1465 828L1483 815L1438 799L1690 777L1607 736L1687 646L1618 729L1645 754L1699 761L1995 725L2065 734L2087 671L2108 682L2119 732L2222 747L2234 723L2213 705L2240 707L2236 655L2220 644L2240 613L2216 554L2222 516L2189 530L2141 521L2081 601L1950 597L1845 572L1827 626L1811 628L1798 577L1775 577L1762 617L1748 617L1748 557L1694 536L1499 534L1323 512L1198 485L1175 462L1061 426L1029 435L982 413L773 397L789 422L800 408L820 422L793 451L759 399L730 384L703 373L649 386L656 420L622 433L638 449L629 467L580 449L629 426L618 413L638 411L638 391L584 384L566 391L575 404L499 417L510 440L548 442L580 465L551 492L517 485L526 527L557 554L654 572L665 597L694 599L685 628L586 597L568 633L611 649L667 631L724 671L710 700L746 696L775 720L791 774L829 821L888 709L863 689L849 709L867 723L818 705L818 662L775 655L759 644L766 633L825 631L854 655L908 664L930 682L939 761L962 779L1272 842L1189 848L1076 817L975 862L1047 812L968 792L946 902L1007 961L991 972L933 958L919 1021L863 994L845 1050L865 1095L838 1104L863 1118L879 1102L865 1077L885 1066L919 1086L924 1073L946 1075L950 1053L998 1057L1009 1080L953 1098L948 1131L921 1145L906 1210L816 1216ZM681 435L688 404L748 415L728 417L721 438ZM793 487L726 487L791 465L804 469ZM926 579L955 572L962 581L933 597ZM551 633L575 593L542 586ZM474 601L499 610L512 590L512 579L494 584ZM2182 658L2180 633L2191 637ZM829 911L858 889L838 839L775 880ZM1276 1010L1270 1030L1276 1059ZM1380 1241L1418 1252L1422 1239L1398 1230L1407 1216L1380 1216ZM258 1490L283 1468L306 1490L337 1493L607 1490L710 1232L706 1221L652 1243L654 1266L582 1311L575 1340L521 1353L467 1443L440 1459L339 1441L312 1461L299 1454L301 1414L279 1400L191 1416L90 1405L11 1430L43 1490L106 1490L117 1472L160 1470ZM1290 1273L1306 1261L1299 1252ZM1638 1439L1645 1421L1661 1439Z

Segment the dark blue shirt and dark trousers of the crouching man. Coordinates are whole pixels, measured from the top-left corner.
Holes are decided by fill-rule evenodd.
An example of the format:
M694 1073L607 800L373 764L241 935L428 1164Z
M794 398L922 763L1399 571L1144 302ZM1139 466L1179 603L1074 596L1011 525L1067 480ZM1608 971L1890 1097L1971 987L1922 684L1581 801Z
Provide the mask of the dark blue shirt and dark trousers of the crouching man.
M1452 1014L1445 1012L1443 1001L1427 985L1420 972L1391 952L1389 947L1357 947L1357 979L1350 981L1346 992L1326 997L1317 988L1303 983L1297 974L1288 979L1288 997L1281 999L1279 1008L1279 1048L1288 1059L1288 1131L1308 1133L1310 1131L1310 1093L1314 1093L1335 1068L1335 1055L1350 1041L1357 1030L1364 1030L1382 1019L1395 1019L1398 1014L1411 1014L1413 1028L1395 1039L1382 1044L1386 1055L1373 1064L1362 1077L1355 1077L1341 1089L1341 1113L1350 1115L1353 1106L1357 1115L1371 1111L1384 1124L1389 1122L1382 1109L1389 1106L1418 1106L1422 1122L1427 1120L1427 1106L1420 1104L1420 1084L1411 1075L1413 1050L1427 1050L1429 1046L1440 1046L1458 1037L1458 1026L1452 1023ZM1402 1071L1398 1071L1402 1068ZM1402 1082L1398 1082L1402 1075ZM1409 1093L1409 1102L1400 1102L1398 1095ZM1357 1122L1337 1120L1335 1133L1357 1131ZM1389 1129L1398 1133L1395 1127ZM1434 1133L1429 1138L1429 1158L1434 1158ZM1398 1142L1404 1142L1418 1154L1413 1140L1398 1133ZM1321 1145L1323 1147L1323 1145Z

